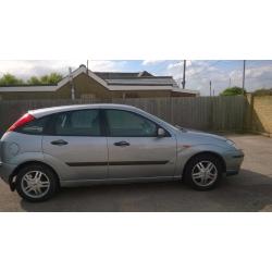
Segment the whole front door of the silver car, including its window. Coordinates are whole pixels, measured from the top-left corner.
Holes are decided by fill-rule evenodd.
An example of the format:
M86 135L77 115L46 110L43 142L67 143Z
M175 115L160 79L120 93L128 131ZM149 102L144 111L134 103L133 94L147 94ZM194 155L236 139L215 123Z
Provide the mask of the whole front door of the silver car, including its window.
M176 139L158 137L158 124L134 112L104 110L108 124L109 177L172 177Z

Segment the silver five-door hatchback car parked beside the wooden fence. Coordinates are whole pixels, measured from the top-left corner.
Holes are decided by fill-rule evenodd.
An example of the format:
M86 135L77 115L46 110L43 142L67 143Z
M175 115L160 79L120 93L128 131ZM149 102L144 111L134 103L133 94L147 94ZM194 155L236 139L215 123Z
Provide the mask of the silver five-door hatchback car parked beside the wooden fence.
M237 174L242 150L224 137L175 127L131 106L33 110L0 141L0 176L29 201L61 186L184 181L206 190Z

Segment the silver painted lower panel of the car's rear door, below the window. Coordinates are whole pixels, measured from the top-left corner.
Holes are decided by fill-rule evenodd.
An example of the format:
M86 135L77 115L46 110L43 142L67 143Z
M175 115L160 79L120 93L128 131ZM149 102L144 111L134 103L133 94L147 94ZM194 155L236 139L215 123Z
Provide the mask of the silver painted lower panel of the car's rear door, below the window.
M53 140L63 139L67 146L52 146ZM69 166L65 162L104 162L108 161L106 137L44 136L44 161L55 169L63 181L106 180L107 165Z

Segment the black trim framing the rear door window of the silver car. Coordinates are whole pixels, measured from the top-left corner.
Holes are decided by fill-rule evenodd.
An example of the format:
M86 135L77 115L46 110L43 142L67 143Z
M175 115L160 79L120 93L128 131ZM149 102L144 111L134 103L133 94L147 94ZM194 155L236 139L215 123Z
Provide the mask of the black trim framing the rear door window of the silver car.
M73 112L79 112L79 111L98 111L98 120L99 120L99 127L100 127L100 135L75 135L75 134L71 134L71 135L59 135L55 133L55 121L59 114L63 114L63 113L73 113ZM57 112L53 114L48 115L50 116L46 126L45 126L45 132L44 132L44 136L59 136L59 137L106 137L106 132L103 129L103 125L102 125L102 119L101 119L101 111L100 109L83 109L83 110L70 110L70 111L61 111L61 112ZM50 122L49 122L50 121Z

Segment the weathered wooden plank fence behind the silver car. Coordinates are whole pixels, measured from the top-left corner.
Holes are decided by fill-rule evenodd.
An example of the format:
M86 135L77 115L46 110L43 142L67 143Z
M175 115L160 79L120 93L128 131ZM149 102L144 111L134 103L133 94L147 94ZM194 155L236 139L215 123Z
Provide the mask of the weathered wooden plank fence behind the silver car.
M0 101L0 134L28 110L79 103L123 103L140 108L171 124L202 131L242 132L247 100L236 97L10 100Z

